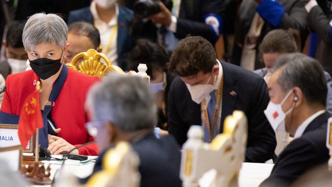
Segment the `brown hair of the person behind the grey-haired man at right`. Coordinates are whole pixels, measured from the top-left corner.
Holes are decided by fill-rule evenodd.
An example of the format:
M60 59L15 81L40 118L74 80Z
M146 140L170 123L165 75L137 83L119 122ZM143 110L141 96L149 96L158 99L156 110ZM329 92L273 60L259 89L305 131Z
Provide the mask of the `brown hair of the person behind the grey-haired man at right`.
M295 53L301 50L301 38L298 30L276 29L265 35L259 46L259 52L264 53Z

